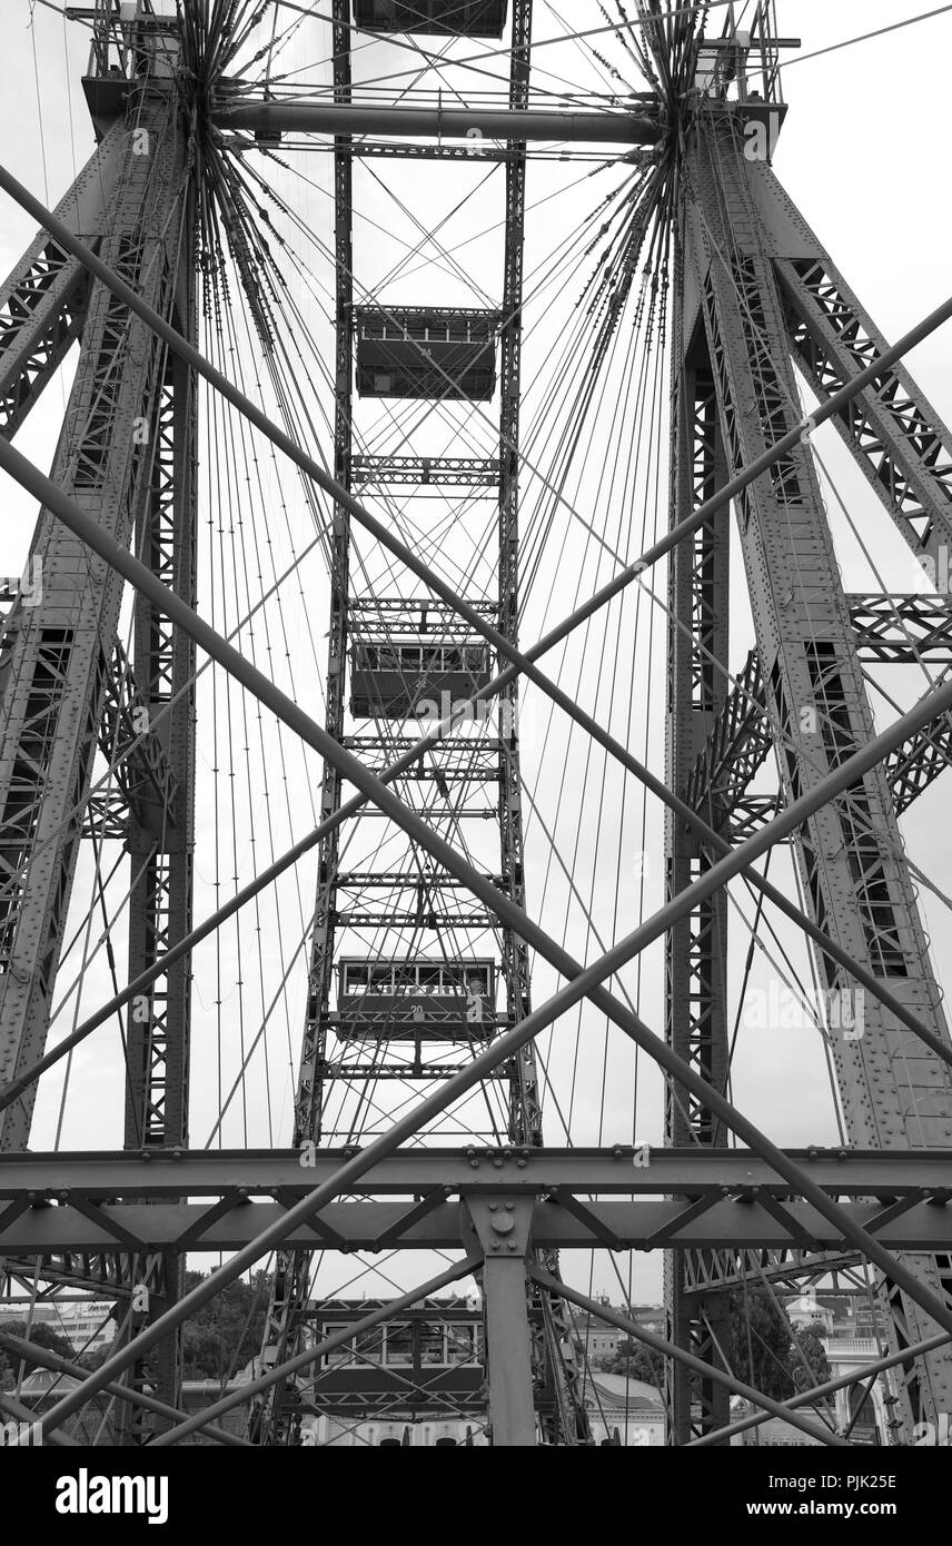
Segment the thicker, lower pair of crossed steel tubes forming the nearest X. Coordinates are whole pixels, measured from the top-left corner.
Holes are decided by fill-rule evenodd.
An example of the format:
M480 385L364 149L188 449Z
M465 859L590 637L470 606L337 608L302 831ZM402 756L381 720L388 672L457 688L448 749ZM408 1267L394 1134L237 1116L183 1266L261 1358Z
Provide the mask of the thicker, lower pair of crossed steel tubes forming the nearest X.
M227 642L221 640L216 632L209 628L185 603L182 603L173 592L161 584L159 580L151 575L145 566L142 566L131 553L119 547L111 538L102 533L96 523L90 521L82 510L79 510L56 485L51 479L45 478L37 468L20 456L11 445L0 444L0 465L3 465L19 482L23 484L31 493L37 495L49 504L60 519L70 529L80 535L83 541L100 557L107 558L121 574L124 574L136 589L142 589L147 595L151 595L156 603L165 611L165 614L181 628L185 628L195 642L207 654L216 659L226 669L236 677L244 686L261 697L261 700L272 708L278 717L309 741L315 750L321 754L337 759L342 770L352 778L359 788L363 788L376 804L388 809L394 819L403 826L408 832L420 841L422 847L428 849L440 863L450 870L450 873L457 875L465 880L467 884L474 890L476 895L484 895L487 906L499 914L501 917L512 921L532 943L539 948L552 965L566 974L578 971L575 980L569 982L566 988L555 994L555 997L544 1006L544 1010L535 1010L521 1025L515 1027L510 1033L499 1037L491 1048L479 1054L473 1064L461 1070L453 1079L439 1090L434 1096L420 1101L408 1115L400 1118L394 1127L374 1144L369 1146L362 1155L348 1161L334 1183L328 1183L325 1187L318 1187L311 1198L304 1203L297 1204L278 1228L266 1231L258 1240L249 1246L246 1251L233 1257L227 1266L221 1268L213 1277L207 1279L202 1285L192 1289L178 1305L168 1309L159 1320L153 1322L151 1326L144 1330L136 1339L133 1348L122 1350L107 1360L104 1370L99 1370L79 1388L79 1391L71 1393L62 1402L57 1404L54 1411L49 1415L51 1421L60 1421L68 1411L76 1410L85 1394L97 1390L100 1384L108 1382L116 1373L121 1373L139 1353L145 1351L148 1347L159 1342L175 1325L187 1319L189 1313L199 1308L207 1299L213 1297L226 1282L232 1282L241 1274L244 1266L253 1265L261 1254L267 1251L270 1245L278 1243L284 1238L287 1226L297 1223L297 1214L300 1209L300 1217L304 1218L308 1212L314 1212L325 1201L329 1201L332 1195L338 1190L346 1189L348 1180L363 1173L374 1160L380 1155L393 1152L405 1136L411 1136L416 1129L428 1119L430 1115L436 1115L444 1110L456 1095L471 1088L485 1070L491 1068L496 1062L502 1061L510 1051L516 1051L521 1045L532 1039L546 1023L550 1023L564 1008L578 1002L586 993L600 1008L621 1025L627 1034L632 1036L640 1045L643 1045L651 1054L668 1068L686 1088L692 1093L700 1095L706 1099L711 1107L723 1118L725 1124L731 1127L739 1136L745 1138L753 1149L770 1158L784 1175L802 1189L804 1197L814 1203L819 1212L835 1221L847 1240L856 1245L872 1262L882 1268L893 1282L906 1289L909 1297L920 1303L927 1313L943 1326L952 1330L952 1314L946 1309L943 1303L929 1291L924 1291L918 1279L912 1271L909 1271L903 1263L890 1257L889 1252L882 1251L872 1237L861 1228L855 1226L850 1220L842 1215L842 1211L830 1204L830 1200L816 1189L808 1178L804 1175L802 1169L782 1155L765 1138L763 1133L742 1113L739 1113L723 1096L716 1091L706 1081L700 1079L694 1071L683 1064L669 1048L666 1048L638 1019L638 1016L631 1011L621 1010L620 1005L604 993L604 989L597 988L601 979L610 976L621 966L627 959L637 954L638 949L644 948L652 937L665 932L677 915L692 904L692 898L699 892L711 894L720 884L723 884L733 873L737 873L745 863L750 861L753 853L760 853L770 847L771 841L780 835L780 832L794 830L814 809L822 807L835 793L842 788L848 788L850 784L859 778L865 768L876 765L884 756L890 745L901 739L910 728L915 728L916 714L929 714L941 711L952 703L952 685L935 690L930 694L930 705L918 705L916 710L904 716L898 725L893 725L890 731L875 737L873 742L862 751L855 753L839 768L831 770L825 778L810 792L810 795L802 796L799 801L793 802L788 810L765 827L756 838L746 843L742 849L734 850L729 858L722 860L719 864L712 866L708 875L697 881L686 895L675 898L666 908L663 908L649 925L637 929L627 940L621 942L610 952L607 952L600 962L589 968L578 968L578 963L572 962L570 957L558 948L553 942L538 929L529 918L519 914L519 909L512 908L498 894L491 894L491 887L485 887L482 878L476 875L470 866L461 863L454 852L439 839L434 839L428 833L423 822L416 816L408 813L399 801L394 801L388 795L383 785L372 775L355 762L342 747L331 744L329 737L317 727L301 710L292 703L283 693L280 693L274 683L267 682L257 668L249 665Z

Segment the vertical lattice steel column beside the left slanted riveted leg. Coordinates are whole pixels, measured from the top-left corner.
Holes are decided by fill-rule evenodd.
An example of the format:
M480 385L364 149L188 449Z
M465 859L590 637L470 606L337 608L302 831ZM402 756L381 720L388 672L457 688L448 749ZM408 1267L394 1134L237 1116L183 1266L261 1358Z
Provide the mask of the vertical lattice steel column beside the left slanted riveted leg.
M195 342L195 220L185 193L182 266L175 322ZM164 584L195 604L196 597L196 391L195 373L170 351L162 362L151 424L151 465L136 512L136 549ZM192 929L195 844L195 643L147 597L134 600L134 671L145 699L150 739L161 744L170 773L168 798L158 819L131 809L127 847L133 886L128 901L128 980L161 960ZM173 798L176 792L176 798ZM192 957L165 966L127 1014L125 1142L175 1147L189 1138L189 1054ZM133 1271L136 1271L133 1265ZM168 1254L155 1269L164 1300L184 1288L185 1257ZM142 1370L176 1405L181 1390L181 1339L168 1337ZM130 1442L142 1442L151 1415L141 1404L124 1411Z

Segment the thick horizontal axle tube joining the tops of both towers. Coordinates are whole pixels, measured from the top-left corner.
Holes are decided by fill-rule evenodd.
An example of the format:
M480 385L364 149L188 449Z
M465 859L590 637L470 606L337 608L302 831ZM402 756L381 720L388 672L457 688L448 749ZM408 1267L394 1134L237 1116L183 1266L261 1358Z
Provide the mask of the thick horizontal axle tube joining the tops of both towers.
M406 139L583 141L587 144L654 145L658 121L643 113L541 113L479 107L354 107L338 102L221 104L212 111L216 128L298 135L394 135Z

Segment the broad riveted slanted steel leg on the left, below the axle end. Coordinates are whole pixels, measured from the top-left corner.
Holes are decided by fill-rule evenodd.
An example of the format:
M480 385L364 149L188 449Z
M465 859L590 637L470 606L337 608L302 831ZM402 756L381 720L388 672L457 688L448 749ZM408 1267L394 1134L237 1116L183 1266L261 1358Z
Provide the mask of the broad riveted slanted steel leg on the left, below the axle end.
M110 148L119 167L108 215L100 209L100 252L148 305L170 317L184 220L178 99L148 88L133 110L147 130L147 150L138 155L142 141L116 127ZM164 354L151 329L130 317L105 286L93 288L54 478L124 544L150 476L142 427L155 417ZM40 512L34 560L42 563L43 597L36 608L17 603L8 618L12 649L2 705L3 1078L32 1064L46 1037L122 597L108 566L90 563L82 543L48 512ZM32 1095L0 1116L2 1144L25 1144Z

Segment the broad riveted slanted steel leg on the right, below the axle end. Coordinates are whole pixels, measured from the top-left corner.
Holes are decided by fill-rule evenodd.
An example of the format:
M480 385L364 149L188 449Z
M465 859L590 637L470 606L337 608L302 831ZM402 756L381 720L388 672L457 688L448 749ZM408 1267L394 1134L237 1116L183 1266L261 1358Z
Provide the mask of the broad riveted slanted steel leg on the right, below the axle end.
M782 235L770 213L762 220L757 212L753 189L759 173L751 173L729 125L706 122L705 135L689 147L688 167L685 230L692 295L736 473L801 419L776 277ZM736 501L760 671L788 798L816 785L875 733L807 439L801 436L801 444ZM819 810L794 833L794 844L814 921L827 928L835 918L844 948L915 1000L947 1044L884 770L872 770L848 796ZM825 988L850 986L831 960L819 955L818 965ZM952 1135L947 1067L921 1045L915 1062L906 1064L906 1047L903 1031L879 1005L867 1013L861 1040L835 1040L831 1054L852 1142L896 1149L944 1144ZM941 1260L923 1257L912 1266L933 1291L944 1292ZM909 1339L923 1340L910 1305L893 1317L898 1334L903 1320L910 1322ZM920 1402L952 1401L949 1353L930 1354L926 1362L927 1379L916 1374L907 1382L913 1419Z

